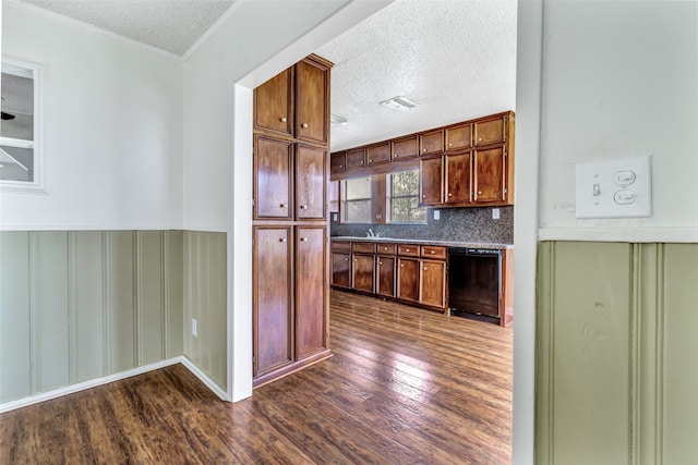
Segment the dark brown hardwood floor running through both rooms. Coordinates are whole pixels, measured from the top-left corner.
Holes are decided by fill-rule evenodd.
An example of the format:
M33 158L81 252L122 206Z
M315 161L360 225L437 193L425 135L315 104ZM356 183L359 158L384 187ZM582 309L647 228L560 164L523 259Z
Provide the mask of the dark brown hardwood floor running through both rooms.
M1 464L506 464L510 328L333 291L335 356L221 402L181 365L0 415Z

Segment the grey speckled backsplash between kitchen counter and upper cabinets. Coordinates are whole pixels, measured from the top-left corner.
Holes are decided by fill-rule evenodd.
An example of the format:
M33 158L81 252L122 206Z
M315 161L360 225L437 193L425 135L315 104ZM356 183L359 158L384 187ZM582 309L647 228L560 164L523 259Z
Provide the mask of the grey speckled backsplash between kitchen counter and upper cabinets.
M492 219L491 207L430 208L428 224L341 224L333 220L330 234L363 237L371 228L384 237L513 244L514 207L495 208L500 209L498 220ZM435 210L438 220L434 220Z

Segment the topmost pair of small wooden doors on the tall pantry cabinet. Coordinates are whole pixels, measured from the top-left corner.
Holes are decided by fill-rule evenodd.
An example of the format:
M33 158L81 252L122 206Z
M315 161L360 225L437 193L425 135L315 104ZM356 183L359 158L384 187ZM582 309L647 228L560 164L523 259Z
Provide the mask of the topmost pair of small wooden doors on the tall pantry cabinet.
M254 89L254 129L275 136L329 140L329 69L311 56Z

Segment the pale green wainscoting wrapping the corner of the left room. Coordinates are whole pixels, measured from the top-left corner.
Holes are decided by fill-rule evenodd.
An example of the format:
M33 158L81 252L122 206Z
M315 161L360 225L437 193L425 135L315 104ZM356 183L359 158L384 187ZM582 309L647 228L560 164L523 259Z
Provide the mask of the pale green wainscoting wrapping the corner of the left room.
M225 389L225 366L209 355L225 354L225 339L190 353L184 336L191 334L184 315L195 311L206 313L204 328L225 331L225 237L190 231L0 232L0 404L182 354ZM202 249L208 254L200 257ZM206 261L209 256L215 259ZM222 274L215 286L197 279L212 274Z

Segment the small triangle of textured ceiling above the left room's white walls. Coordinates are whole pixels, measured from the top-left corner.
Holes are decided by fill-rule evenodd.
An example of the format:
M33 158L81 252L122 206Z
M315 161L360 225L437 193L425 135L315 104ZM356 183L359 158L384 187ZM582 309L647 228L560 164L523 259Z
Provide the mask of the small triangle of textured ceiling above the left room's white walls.
M182 56L232 0L22 0Z

